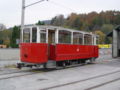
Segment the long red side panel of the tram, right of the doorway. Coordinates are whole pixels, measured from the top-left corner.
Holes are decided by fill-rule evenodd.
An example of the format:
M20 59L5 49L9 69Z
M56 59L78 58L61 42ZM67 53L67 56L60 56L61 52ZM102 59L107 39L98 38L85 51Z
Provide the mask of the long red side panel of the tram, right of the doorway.
M50 58L55 61L97 58L98 50L95 47L92 45L56 44L56 46L51 46Z

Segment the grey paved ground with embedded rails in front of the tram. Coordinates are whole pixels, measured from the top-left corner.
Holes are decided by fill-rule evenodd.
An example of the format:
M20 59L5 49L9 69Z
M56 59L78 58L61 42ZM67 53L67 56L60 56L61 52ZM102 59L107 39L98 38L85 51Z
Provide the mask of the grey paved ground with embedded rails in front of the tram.
M0 90L120 90L120 59L112 59L110 49L101 49L96 64L52 71L6 71L9 73L0 73ZM15 73L10 74L12 71Z

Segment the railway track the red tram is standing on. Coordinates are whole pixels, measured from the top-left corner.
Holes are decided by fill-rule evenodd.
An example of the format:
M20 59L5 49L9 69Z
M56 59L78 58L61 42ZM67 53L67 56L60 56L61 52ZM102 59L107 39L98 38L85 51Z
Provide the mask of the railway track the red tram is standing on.
M0 80L5 80L5 79L10 79L10 78L17 78L17 77L22 77L22 76L28 76L28 75L33 75L33 74L38 74L41 72L49 72L49 71L55 71L55 70L63 70L63 69L68 69L68 68L73 68L73 67L78 67L82 66L81 64L77 65L71 65L67 67L60 67L60 68L48 68L48 69L31 69L31 70L22 70L22 71L12 71L12 72L7 72L7 73L1 73L0 74Z

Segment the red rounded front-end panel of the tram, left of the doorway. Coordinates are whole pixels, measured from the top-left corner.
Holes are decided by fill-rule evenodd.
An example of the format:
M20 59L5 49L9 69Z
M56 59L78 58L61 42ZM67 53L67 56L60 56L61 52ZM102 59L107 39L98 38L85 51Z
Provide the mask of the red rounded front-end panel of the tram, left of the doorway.
M42 43L21 43L21 61L34 64L42 64L48 61L47 44Z

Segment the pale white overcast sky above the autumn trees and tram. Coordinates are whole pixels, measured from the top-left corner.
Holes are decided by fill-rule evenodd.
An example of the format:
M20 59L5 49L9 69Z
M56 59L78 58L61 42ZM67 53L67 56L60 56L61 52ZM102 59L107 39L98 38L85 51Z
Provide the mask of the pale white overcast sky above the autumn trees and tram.
M39 0L26 0L26 5ZM0 23L7 27L20 25L22 0L0 0ZM25 24L49 20L63 14L89 13L91 11L120 10L120 0L49 0L26 8Z

